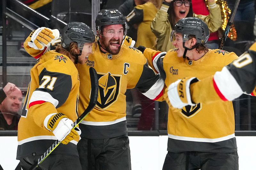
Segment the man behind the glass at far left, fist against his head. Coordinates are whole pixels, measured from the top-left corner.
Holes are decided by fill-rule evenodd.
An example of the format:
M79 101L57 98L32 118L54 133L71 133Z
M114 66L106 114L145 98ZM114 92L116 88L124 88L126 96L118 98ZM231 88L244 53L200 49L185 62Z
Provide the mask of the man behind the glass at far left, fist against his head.
M17 130L20 120L18 112L21 107L22 92L12 83L7 83L3 91L6 98L0 104L0 130ZM2 94L1 99L3 99Z

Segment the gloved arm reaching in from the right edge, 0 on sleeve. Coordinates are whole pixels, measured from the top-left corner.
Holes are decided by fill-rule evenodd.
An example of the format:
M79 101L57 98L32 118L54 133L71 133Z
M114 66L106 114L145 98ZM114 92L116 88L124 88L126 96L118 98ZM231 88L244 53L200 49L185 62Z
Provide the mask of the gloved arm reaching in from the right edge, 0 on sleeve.
M190 83L187 83L190 81ZM183 85L180 85L183 84ZM182 78L172 83L165 97L173 107L204 101L231 101L241 94L256 96L256 43L232 63L214 75L198 81L195 77ZM184 88L180 88L180 87ZM180 95L180 93L184 95ZM168 97L168 98L167 98Z

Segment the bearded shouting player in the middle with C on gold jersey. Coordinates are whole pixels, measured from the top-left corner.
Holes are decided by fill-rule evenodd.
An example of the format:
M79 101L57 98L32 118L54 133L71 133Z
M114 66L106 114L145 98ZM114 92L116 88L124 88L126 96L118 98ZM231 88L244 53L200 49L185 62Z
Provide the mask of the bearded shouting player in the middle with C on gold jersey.
M99 79L96 107L79 126L82 131L82 139L77 144L80 162L84 170L130 170L124 93L136 87L155 99L162 92L164 82L146 66L147 60L139 50L121 45L126 26L118 10L100 10L95 25L96 51L89 56L87 64L77 66L81 84L88 81L87 70L91 64ZM79 114L88 105L89 89L80 86Z

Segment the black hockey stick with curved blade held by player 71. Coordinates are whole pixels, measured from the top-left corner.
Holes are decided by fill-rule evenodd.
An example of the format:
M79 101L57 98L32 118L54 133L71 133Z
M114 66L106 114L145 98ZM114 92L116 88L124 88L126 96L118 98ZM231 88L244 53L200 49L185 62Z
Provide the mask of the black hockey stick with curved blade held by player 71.
M98 90L99 90L99 84L98 84L98 77L97 77L97 72L94 68L90 67L89 69L90 72L90 78L91 78L91 98L89 101L88 107L85 109L84 113L82 113L81 116L79 116L76 121L73 123L73 129L76 128L76 126L82 122L82 120L87 116L91 110L94 108L94 106L97 103L97 98L98 98ZM36 167L41 164L47 156L49 156L50 153L60 144L59 140L56 140L52 146L47 149L46 152L37 160L37 162L31 166L29 170L34 170Z

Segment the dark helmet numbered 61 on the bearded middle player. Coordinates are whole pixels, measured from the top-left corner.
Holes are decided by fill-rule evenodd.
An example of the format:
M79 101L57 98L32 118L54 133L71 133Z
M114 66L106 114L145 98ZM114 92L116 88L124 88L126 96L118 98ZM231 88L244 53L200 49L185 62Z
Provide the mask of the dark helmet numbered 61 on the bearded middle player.
M101 26L122 24L124 27L124 34L126 35L126 25L124 15L117 9L103 9L100 10L96 19L95 26L100 31Z

